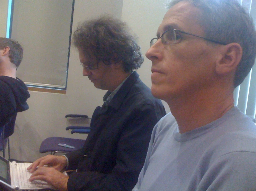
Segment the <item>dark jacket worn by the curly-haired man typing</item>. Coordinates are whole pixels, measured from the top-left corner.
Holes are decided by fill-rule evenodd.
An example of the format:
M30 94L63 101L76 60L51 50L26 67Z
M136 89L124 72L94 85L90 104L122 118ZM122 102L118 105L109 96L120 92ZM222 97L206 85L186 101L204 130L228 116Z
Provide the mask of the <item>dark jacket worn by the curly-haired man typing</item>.
M69 191L124 191L135 186L155 124L166 114L133 72L91 124L85 145L66 154Z

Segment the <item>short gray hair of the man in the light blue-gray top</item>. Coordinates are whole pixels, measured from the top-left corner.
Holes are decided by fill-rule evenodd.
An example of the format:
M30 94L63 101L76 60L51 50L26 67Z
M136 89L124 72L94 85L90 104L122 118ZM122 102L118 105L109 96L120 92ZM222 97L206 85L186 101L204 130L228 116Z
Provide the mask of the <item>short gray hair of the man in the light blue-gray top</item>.
M234 86L239 86L253 67L256 57L255 25L248 10L236 0L173 0L167 8L180 1L188 1L201 10L197 19L204 28L206 38L240 44L243 54L234 79Z

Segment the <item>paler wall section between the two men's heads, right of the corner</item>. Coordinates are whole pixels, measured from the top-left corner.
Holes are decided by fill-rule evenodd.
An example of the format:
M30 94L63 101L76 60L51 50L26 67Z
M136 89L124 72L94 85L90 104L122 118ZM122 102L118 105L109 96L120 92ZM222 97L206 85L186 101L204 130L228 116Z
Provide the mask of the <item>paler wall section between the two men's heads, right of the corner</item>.
M166 13L165 0L123 0L122 20L139 37L144 62L138 70L141 80L151 87L151 61L145 57L150 40L156 37L159 24Z

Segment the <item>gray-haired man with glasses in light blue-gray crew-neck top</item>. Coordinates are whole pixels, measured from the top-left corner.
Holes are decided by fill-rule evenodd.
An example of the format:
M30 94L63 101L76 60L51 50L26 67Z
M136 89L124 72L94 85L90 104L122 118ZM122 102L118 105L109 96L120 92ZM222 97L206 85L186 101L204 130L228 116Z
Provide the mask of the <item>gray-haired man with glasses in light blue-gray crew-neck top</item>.
M153 129L133 191L256 190L256 126L233 91L255 62L252 19L235 0L175 0L146 56L153 96L171 113Z

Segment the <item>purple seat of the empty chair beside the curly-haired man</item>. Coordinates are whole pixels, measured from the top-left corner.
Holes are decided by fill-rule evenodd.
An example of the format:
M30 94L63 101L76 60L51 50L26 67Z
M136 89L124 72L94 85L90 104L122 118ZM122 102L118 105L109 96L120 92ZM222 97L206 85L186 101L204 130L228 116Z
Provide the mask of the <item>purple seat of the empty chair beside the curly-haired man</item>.
M59 143L65 144L74 148L68 148L58 145ZM72 139L72 138L65 138L65 137L48 137L43 140L39 152L70 152L74 150L81 149L85 140L83 139Z

